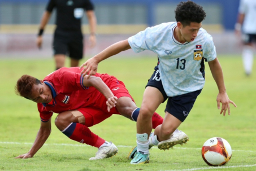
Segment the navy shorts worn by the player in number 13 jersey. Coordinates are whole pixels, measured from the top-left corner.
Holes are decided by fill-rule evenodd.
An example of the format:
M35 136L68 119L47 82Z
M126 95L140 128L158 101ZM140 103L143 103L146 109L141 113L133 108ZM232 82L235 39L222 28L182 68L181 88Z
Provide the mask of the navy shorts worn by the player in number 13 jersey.
M146 87L147 86L155 87L163 94L163 103L168 99L164 112L171 113L171 115L175 116L181 122L186 119L194 105L194 102L196 102L197 96L202 91L201 89L191 93L177 95L175 97L168 97L163 89L158 66L155 67L155 71L147 82Z

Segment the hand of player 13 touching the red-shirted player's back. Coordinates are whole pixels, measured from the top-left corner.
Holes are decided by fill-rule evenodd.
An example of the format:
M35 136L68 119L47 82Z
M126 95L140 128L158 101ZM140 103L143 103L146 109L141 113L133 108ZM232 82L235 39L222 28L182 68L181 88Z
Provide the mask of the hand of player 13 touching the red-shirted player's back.
M90 78L90 76L95 75L98 69L98 61L95 58L95 56L93 58L88 59L84 64L81 65L80 69L84 67L84 69L81 71L81 75L85 76L86 74L88 74L87 79Z

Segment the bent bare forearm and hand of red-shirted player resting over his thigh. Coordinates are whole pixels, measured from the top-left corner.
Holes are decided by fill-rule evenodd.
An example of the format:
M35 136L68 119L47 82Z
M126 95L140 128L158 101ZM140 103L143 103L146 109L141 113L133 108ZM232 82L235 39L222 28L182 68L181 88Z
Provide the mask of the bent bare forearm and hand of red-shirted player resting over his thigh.
M112 91L109 89L109 87L101 80L100 77L94 77L91 76L90 78L87 78L88 75L85 76L85 79L83 80L83 85L84 86L93 86L96 87L99 92L101 92L107 99L107 111L110 112L110 109L112 107L115 107L116 100L118 99L117 97L114 96Z

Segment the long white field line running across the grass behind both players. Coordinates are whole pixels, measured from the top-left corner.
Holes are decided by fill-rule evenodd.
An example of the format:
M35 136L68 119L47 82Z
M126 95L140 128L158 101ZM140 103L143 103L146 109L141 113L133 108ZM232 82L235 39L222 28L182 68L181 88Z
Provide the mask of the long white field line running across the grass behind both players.
M32 145L33 143L19 143L19 142L1 142L0 144L28 144L28 145ZM45 143L44 146L75 146L75 147L83 147L83 146L89 146L87 144L64 144L64 143L53 143L53 144L47 144ZM116 147L124 147L124 148L132 148L134 146L123 146L123 145L119 145ZM157 148L157 147L153 147L153 148ZM181 150L201 150L201 148L184 148L184 147L173 147L173 148L177 148L177 149L181 149ZM255 152L255 151L251 151L251 150L232 150L232 151L239 151L239 152Z

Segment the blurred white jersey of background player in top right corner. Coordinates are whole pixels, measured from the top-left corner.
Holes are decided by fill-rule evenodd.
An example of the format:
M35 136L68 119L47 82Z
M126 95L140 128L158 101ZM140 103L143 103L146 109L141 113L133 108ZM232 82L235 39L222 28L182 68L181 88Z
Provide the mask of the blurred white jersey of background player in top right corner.
M242 30L246 34L256 34L256 0L240 0L240 14L245 14Z

